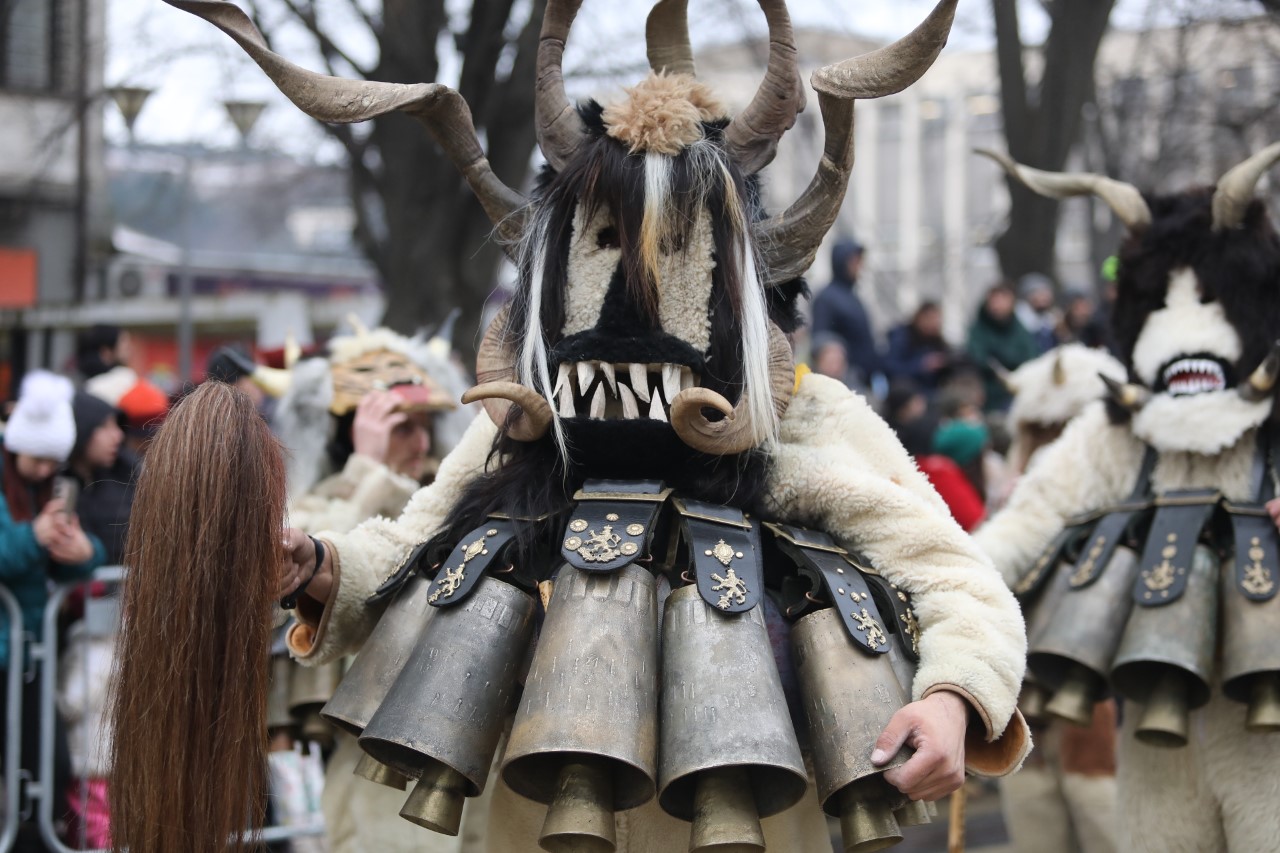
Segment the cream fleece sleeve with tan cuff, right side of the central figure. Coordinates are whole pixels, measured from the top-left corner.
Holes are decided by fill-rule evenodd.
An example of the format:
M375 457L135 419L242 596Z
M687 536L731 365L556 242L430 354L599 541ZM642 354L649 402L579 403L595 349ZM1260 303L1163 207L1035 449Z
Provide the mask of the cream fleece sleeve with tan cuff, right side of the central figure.
M768 510L831 533L911 593L920 622L913 698L965 697L974 772L1015 770L1030 747L1016 713L1027 654L1018 602L991 562L864 400L823 377L803 380L782 421Z

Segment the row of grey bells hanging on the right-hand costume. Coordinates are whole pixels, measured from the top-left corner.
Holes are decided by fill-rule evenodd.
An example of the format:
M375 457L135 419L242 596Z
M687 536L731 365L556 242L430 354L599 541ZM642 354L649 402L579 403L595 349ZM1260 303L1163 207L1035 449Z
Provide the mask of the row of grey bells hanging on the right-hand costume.
M1027 610L1023 713L1088 725L1093 703L1114 689L1140 704L1139 740L1180 747L1190 712L1219 679L1229 698L1248 703L1249 730L1280 731L1280 597L1242 596L1234 573L1204 544L1181 597L1167 605L1134 605L1139 570L1138 555L1119 547L1097 580L1073 589L1071 561L1057 565Z

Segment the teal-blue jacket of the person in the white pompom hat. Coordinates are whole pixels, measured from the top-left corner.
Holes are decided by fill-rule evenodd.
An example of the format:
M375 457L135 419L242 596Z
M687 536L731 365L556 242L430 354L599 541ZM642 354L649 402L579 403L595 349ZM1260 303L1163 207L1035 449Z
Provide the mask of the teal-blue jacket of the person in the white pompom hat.
M4 584L22 608L22 626L38 635L49 603L49 581L67 583L88 578L106 561L106 548L95 535L88 535L93 556L78 566L54 562L44 546L36 542L31 521L14 521L9 503L0 489L0 584ZM0 608L0 670L9 667L9 611Z

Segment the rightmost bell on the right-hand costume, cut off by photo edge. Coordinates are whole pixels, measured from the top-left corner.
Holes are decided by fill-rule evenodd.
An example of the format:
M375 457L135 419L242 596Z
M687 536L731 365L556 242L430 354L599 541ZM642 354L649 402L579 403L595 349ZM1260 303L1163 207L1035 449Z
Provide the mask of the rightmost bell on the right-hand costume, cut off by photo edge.
M1236 588L1234 571L1221 576L1222 693L1248 703L1249 731L1280 731L1280 596L1252 601Z

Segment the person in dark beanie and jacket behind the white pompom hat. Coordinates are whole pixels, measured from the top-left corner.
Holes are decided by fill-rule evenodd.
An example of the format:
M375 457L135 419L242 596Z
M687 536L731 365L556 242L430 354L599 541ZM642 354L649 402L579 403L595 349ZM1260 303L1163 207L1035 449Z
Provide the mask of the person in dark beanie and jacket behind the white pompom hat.
M129 529L138 457L123 446L120 412L83 391L72 401L76 446L67 467L79 480L77 514L84 530L106 547L106 561L124 560L124 534Z

